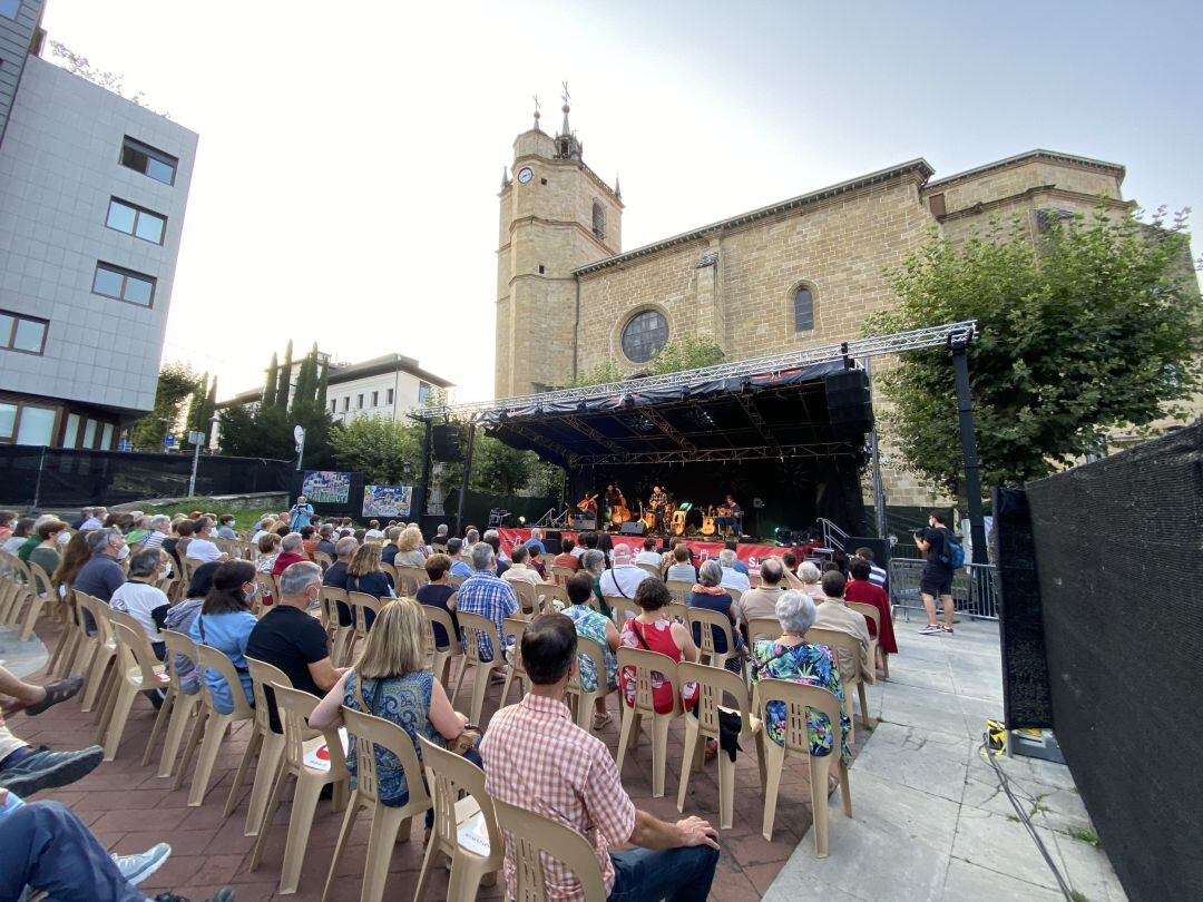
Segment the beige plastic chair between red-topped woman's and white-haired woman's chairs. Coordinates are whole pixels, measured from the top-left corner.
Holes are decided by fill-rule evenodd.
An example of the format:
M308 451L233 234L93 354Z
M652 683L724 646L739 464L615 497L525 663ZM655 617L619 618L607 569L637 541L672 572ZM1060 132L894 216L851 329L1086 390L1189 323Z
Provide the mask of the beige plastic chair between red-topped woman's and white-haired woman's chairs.
M677 677L682 682L698 684L698 706L694 710L698 716L685 719L685 754L681 759L681 783L677 787L677 811L685 811L689 771L700 771L704 766L706 740L718 742L719 711L734 711L740 716L739 741L745 749L743 754L751 750L749 743L755 741L755 756L760 765L760 789L763 790L765 785L764 736L760 720L752 717L747 683L729 670L689 661L677 664ZM724 707L724 701L733 702L734 706ZM730 830L731 814L735 808L735 761L723 749L718 749L717 756L718 820L723 830Z

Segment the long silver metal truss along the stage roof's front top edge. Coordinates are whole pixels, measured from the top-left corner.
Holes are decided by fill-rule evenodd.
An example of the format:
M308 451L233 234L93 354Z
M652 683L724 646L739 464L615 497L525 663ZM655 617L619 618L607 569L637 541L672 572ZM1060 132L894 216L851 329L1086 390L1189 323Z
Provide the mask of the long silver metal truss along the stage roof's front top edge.
M802 351L774 354L765 357L717 363L700 369L686 369L680 373L628 379L621 382L602 382L581 388L559 388L540 394L525 394L516 398L481 400L470 404L454 404L415 410L410 416L415 420L468 420L475 421L486 414L506 414L522 416L527 410L538 410L551 405L576 403L614 394L638 394L645 391L658 391L688 382L712 381L721 379L740 379L757 375L774 375L812 363L838 361L845 357L881 357L890 354L905 354L924 348L940 348L953 342L972 340L978 334L976 320L947 322L942 326L928 326L909 332L896 332L889 336L858 338L843 344L824 345ZM512 422L509 423L512 428Z

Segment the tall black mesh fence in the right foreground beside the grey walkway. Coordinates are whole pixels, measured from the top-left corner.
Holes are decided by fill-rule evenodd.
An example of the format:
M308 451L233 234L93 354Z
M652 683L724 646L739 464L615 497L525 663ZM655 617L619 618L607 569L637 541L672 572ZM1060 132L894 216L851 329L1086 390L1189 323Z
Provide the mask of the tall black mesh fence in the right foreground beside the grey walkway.
M1203 421L1027 486L1054 729L1132 900L1203 885Z

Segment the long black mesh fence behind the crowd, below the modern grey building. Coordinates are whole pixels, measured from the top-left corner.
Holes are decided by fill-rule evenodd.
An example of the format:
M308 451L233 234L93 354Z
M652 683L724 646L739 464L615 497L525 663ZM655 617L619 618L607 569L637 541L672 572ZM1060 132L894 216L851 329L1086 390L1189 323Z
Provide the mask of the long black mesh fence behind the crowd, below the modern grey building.
M201 455L196 494L286 492L292 464ZM0 504L71 508L188 494L192 456L0 445Z

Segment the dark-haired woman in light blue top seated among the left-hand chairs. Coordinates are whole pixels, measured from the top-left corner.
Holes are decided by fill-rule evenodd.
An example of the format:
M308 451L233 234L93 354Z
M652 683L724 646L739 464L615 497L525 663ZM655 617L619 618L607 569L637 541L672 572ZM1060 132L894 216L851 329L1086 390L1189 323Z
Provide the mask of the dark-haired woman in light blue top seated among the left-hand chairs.
M249 560L227 560L221 564L213 574L213 588L205 597L201 612L188 630L194 642L217 648L233 663L247 702L251 707L255 705L255 695L250 688L244 654L250 630L259 622L250 612L250 603L257 588L255 565ZM231 713L233 696L230 695L225 677L215 670L206 670L205 684L213 694L213 707L223 714Z

